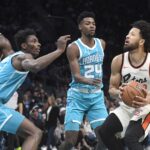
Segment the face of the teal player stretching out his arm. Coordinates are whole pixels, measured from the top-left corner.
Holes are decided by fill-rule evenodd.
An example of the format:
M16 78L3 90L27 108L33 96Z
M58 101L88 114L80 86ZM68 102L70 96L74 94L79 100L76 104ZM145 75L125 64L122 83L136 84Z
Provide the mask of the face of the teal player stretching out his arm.
M25 43L25 50L34 57L37 57L40 53L40 47L41 44L38 38L35 35L29 35Z

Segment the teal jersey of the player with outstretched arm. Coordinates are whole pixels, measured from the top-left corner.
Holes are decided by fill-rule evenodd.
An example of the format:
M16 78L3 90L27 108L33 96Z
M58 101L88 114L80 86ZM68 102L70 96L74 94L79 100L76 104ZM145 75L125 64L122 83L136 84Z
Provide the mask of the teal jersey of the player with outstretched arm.
M11 98L28 74L28 72L16 70L12 65L12 58L19 54L24 53L16 52L0 62L0 103L6 103Z

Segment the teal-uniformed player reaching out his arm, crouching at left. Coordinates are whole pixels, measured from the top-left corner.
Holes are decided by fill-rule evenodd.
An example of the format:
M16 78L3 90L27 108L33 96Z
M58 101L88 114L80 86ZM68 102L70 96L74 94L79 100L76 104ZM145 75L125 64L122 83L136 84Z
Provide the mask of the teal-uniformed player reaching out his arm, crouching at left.
M25 138L22 150L37 150L42 131L17 111L4 104L25 80L29 71L37 72L48 66L64 51L69 35L57 41L57 50L35 59L41 44L31 29L20 30L15 40L20 51L7 56L0 63L0 130L18 134Z

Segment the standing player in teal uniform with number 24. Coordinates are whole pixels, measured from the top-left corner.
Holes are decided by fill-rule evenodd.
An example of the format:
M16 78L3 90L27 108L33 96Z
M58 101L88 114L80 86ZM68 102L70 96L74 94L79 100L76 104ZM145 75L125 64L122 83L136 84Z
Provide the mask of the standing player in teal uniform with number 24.
M82 12L78 16L78 27L81 38L67 48L72 82L67 93L65 142L60 146L60 150L70 150L76 144L84 115L87 116L92 129L100 126L107 117L101 90L105 42L94 38L94 13Z

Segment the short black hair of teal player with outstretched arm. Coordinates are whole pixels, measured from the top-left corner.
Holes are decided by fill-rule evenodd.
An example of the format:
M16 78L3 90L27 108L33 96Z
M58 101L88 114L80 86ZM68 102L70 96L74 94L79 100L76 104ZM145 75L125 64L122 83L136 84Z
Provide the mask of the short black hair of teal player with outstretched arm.
M19 30L15 34L14 39L15 39L15 43L16 43L16 46L18 49L22 49L21 44L26 42L28 36L30 36L30 35L36 35L36 32L30 28Z

